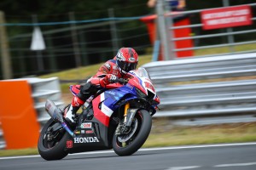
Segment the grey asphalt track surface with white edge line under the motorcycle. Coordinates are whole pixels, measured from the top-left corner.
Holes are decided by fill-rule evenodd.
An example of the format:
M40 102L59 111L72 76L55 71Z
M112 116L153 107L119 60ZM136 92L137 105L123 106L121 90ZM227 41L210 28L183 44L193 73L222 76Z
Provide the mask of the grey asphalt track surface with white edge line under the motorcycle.
M60 161L40 156L0 157L0 170L255 170L256 143L208 144L138 150L117 156L113 150L68 155Z

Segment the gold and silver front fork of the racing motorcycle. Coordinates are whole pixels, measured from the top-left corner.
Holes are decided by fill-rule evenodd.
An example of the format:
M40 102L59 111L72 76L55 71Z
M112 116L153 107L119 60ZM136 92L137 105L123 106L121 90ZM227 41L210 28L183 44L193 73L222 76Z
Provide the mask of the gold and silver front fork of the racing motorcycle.
M129 133L131 129L131 122L138 109L131 109L130 103L125 104L124 121L119 122L119 126L116 129L116 134Z

